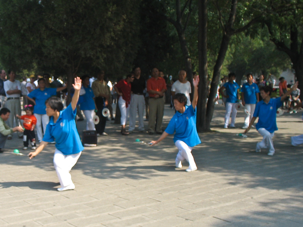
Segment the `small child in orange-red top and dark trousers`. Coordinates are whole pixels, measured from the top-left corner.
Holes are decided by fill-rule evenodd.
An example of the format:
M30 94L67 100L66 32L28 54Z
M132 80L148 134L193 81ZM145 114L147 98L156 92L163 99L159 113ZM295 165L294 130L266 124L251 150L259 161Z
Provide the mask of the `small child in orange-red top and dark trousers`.
M37 119L33 115L34 107L33 105L25 105L25 112L26 115L19 116L16 115L17 118L23 120L23 126L25 128L23 132L23 150L26 150L28 147L28 141L30 141L32 145L32 150L36 149L36 136L35 136L35 126L37 124Z

